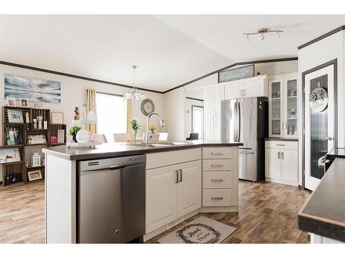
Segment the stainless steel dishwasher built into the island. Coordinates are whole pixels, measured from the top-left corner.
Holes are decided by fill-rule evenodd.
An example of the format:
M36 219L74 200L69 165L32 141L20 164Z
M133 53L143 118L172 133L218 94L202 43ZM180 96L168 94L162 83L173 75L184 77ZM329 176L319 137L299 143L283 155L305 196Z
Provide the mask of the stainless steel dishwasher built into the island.
M145 233L146 155L79 162L79 243L126 243Z

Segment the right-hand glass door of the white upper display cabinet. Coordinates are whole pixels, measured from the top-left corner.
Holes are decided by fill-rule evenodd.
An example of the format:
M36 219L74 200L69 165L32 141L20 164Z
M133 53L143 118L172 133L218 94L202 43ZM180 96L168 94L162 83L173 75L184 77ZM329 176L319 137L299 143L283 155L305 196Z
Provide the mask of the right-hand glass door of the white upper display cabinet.
M284 138L297 138L297 77L284 78Z

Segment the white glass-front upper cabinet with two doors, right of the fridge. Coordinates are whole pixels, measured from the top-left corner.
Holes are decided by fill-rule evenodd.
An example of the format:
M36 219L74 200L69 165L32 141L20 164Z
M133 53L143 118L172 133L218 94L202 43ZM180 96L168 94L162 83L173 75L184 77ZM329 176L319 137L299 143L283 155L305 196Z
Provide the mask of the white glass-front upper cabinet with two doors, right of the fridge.
M277 76L269 82L269 136L297 136L297 74Z

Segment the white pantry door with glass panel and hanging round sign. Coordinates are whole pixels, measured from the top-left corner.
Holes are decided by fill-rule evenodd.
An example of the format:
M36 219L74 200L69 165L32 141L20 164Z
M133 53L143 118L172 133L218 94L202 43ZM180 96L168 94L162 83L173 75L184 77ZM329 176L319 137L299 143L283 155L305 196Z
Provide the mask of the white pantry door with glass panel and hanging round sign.
M305 120L305 187L315 190L324 169L319 168L317 160L334 146L334 86L333 65L306 74L304 94ZM316 87L326 89L328 106L320 112L312 111L309 105L309 94Z

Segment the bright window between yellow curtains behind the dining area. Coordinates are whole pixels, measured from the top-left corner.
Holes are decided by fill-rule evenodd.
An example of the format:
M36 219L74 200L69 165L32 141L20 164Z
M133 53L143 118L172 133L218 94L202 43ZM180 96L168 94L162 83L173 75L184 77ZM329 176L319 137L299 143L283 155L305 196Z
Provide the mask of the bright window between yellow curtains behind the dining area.
M97 92L97 131L105 134L108 142L113 141L112 133L127 131L127 100L115 94Z

